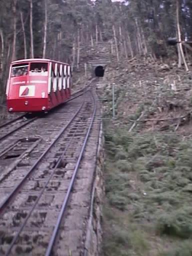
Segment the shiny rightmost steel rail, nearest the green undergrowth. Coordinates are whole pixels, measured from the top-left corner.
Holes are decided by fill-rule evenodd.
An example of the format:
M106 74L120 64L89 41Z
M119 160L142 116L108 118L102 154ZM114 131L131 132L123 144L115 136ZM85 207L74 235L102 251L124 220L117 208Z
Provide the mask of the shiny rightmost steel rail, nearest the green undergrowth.
M52 255L52 254L51 254L51 253L52 253L52 248L53 248L53 245L54 245L54 242L55 242L57 233L58 233L59 225L60 225L60 222L61 222L63 213L64 213L64 211L66 210L67 202L68 202L68 199L69 199L69 196L70 196L72 187L73 187L73 183L74 183L74 180L75 180L75 178L76 178L76 174L77 174L77 171L78 171L78 168L79 168L79 165L80 165L80 161L81 161L81 158L82 158L82 155L83 155L83 152L84 152L84 149L85 149L85 146L86 146L86 143L87 143L89 134L90 134L90 130L91 130L91 128L92 128L92 124L93 124L93 121L94 121L94 118L95 118L95 114L96 114L96 100L95 100L95 98L94 98L93 95L92 95L92 99L93 99L93 102L94 102L94 109L93 109L91 121L90 121L89 127L88 127L88 129L87 129L86 136L85 136L85 139L84 139L84 142L83 142L83 145L82 145L80 154L79 154L79 156L78 156L78 159L77 159L77 162L76 162L76 165L75 165L73 174L72 174L72 178L71 178L71 180L70 180L70 183L69 183L69 186L68 186L68 189L67 189L67 192L66 192L66 196L64 197L63 204L62 204L62 207L61 207L59 216L58 216L58 218L57 218L56 225L55 225L55 227L54 227L54 230L53 230L53 232L52 232L51 238L50 238L50 240L49 240L49 243L48 243L48 247L47 247L45 256L50 256L50 255Z

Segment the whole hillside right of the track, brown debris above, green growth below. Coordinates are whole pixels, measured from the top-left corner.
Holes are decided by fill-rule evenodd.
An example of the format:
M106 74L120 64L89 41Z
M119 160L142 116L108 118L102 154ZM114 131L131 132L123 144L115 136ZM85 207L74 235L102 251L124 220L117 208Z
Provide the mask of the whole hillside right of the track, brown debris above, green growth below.
M112 62L99 88L106 150L104 255L192 253L191 69L165 62Z

